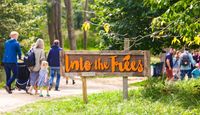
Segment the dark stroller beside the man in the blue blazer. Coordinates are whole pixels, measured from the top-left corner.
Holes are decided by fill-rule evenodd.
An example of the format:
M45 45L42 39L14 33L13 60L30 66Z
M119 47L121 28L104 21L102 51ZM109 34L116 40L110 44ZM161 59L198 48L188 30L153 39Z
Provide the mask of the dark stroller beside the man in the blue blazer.
M18 63L18 77L16 81L16 88L18 90L25 90L27 93L27 86L29 84L29 69L24 63Z

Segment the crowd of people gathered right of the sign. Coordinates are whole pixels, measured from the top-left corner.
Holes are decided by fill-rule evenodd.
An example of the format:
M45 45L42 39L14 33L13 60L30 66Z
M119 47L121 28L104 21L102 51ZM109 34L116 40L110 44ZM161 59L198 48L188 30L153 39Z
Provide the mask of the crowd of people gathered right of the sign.
M167 81L200 77L200 53L185 48L183 52L170 48L165 57Z

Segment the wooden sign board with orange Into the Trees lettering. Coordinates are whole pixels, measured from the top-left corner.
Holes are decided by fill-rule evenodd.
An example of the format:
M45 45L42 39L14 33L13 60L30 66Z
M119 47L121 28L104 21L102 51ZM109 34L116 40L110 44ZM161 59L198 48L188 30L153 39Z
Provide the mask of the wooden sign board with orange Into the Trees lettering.
M149 76L149 51L66 51L66 76Z

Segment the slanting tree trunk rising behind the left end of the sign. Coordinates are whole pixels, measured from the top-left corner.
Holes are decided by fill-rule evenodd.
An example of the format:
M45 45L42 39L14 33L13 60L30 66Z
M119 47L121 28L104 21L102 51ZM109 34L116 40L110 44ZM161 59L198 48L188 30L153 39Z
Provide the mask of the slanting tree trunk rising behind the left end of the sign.
M64 0L67 12L67 29L68 29L68 38L70 42L70 49L76 50L76 39L74 35L74 26L72 19L72 2L71 0Z

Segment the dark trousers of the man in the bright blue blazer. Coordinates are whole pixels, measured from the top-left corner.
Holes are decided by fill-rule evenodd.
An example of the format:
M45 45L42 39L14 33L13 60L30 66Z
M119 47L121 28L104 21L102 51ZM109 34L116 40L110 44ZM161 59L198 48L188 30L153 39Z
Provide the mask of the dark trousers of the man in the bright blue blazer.
M4 63L4 69L6 72L6 85L11 88L11 84L18 75L18 66L15 63ZM11 72L13 73L11 77Z

